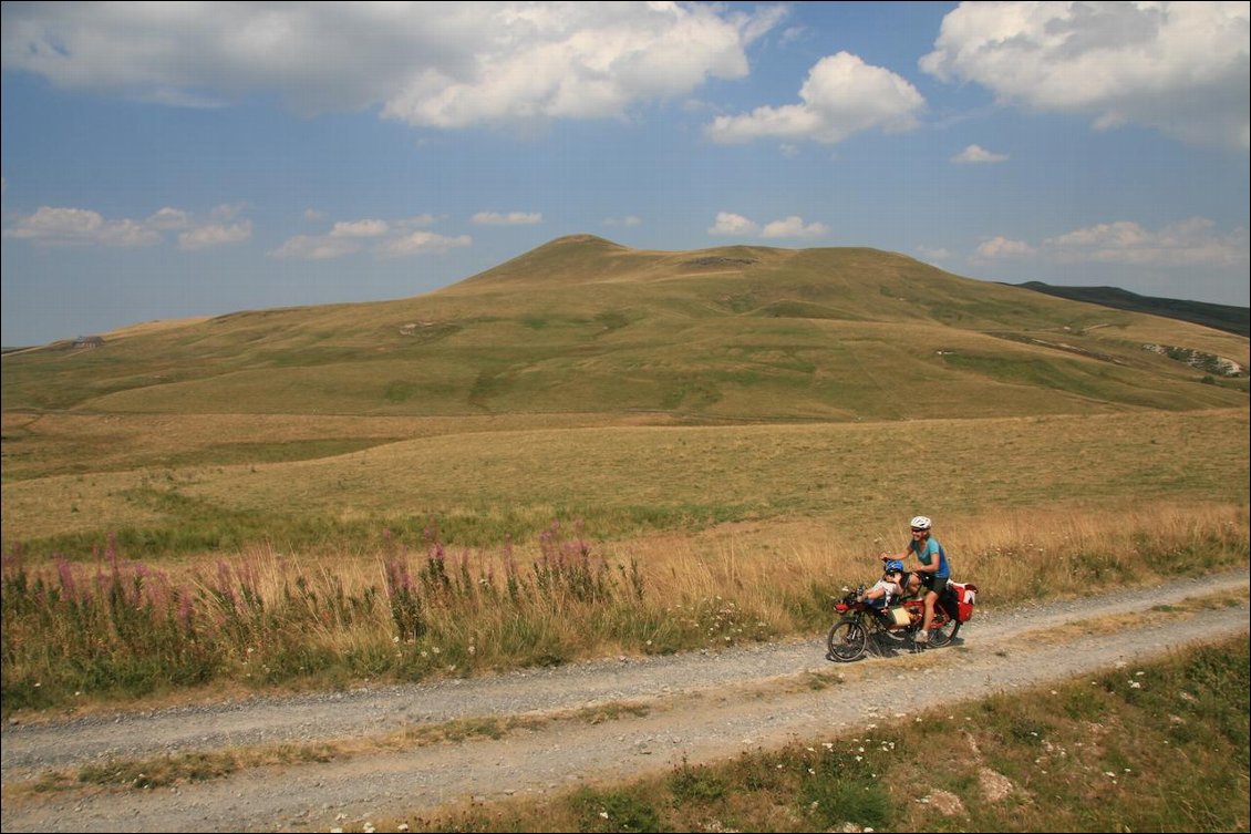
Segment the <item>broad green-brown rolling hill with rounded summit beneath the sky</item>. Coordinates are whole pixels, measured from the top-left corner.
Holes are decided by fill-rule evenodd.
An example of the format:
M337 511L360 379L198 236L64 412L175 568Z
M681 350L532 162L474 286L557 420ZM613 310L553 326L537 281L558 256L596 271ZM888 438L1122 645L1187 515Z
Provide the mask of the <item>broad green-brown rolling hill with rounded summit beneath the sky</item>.
M873 249L572 235L413 298L9 353L3 394L5 411L696 422L1180 411L1245 406L1247 344Z

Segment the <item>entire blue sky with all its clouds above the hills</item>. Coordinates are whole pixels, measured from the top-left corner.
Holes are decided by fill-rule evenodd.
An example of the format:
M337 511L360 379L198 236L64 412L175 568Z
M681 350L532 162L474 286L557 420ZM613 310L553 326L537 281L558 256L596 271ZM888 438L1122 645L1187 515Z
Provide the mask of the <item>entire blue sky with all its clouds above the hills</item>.
M553 238L1248 304L1248 3L4 3L3 344Z

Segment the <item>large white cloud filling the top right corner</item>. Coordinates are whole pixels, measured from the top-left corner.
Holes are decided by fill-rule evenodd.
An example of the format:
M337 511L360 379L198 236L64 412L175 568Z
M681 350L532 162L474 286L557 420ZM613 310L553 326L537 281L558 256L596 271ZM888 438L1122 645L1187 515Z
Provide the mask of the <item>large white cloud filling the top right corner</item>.
M1247 3L965 3L921 68L1005 104L1248 148Z

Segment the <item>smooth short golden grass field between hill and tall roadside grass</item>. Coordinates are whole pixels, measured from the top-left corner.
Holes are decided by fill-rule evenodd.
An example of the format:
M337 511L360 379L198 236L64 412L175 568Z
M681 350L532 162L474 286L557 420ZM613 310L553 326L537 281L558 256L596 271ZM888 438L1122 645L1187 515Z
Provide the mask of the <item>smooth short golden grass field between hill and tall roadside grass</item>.
M80 475L6 481L5 541L65 532L103 541L128 525L181 523L136 502L134 490L193 500L204 511L365 520L379 528L437 516L545 522L559 515L585 517L590 535L615 538L638 535L632 525L641 518L643 527L683 533L726 521L811 520L842 540L894 536L899 518L917 512L947 521L1136 502L1245 507L1248 495L1246 409L704 427L580 420L146 417L125 435L105 435L106 423L96 423L101 435L90 440L73 418L56 418L46 431L29 427L31 446L49 461L64 465L56 445L78 438L115 450L119 467L138 468L108 472L100 471L108 462L88 462L91 470ZM65 433L56 421L66 421ZM240 451L231 443L245 430L255 445ZM408 440L387 442L397 436ZM337 438L379 445L281 457ZM8 455L25 442L6 443L6 472ZM174 455L179 443L198 462L144 463ZM211 462L249 452L278 460ZM647 522L652 516L658 521Z

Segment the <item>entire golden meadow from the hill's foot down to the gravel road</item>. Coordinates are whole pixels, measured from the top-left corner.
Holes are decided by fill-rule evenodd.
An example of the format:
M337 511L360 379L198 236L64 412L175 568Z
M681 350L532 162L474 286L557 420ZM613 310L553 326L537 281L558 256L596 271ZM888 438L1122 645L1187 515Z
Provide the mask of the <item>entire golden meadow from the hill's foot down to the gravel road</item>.
M254 440L220 443L241 420ZM1246 411L564 420L26 425L5 714L818 632L916 512L985 605L1248 560ZM86 442L110 468L55 473Z

